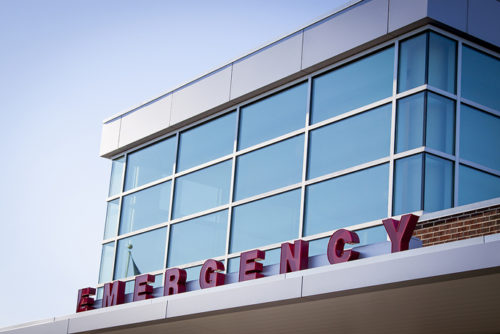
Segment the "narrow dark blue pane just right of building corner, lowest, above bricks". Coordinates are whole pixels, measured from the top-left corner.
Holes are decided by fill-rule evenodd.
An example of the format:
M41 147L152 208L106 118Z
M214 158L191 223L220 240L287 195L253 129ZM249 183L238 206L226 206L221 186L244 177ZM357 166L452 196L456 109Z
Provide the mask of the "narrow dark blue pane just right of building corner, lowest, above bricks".
M449 160L425 155L425 211L439 211L453 206L453 167L453 162Z

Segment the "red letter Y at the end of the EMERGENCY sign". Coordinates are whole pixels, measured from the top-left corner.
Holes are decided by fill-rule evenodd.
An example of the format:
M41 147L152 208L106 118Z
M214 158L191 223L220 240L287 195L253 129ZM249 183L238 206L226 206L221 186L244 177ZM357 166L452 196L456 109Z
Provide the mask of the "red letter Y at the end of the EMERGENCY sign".
M407 250L410 247L410 239L415 226L417 226L418 216L401 216L401 222L396 219L384 219L384 227L389 239L391 239L391 252L396 253Z

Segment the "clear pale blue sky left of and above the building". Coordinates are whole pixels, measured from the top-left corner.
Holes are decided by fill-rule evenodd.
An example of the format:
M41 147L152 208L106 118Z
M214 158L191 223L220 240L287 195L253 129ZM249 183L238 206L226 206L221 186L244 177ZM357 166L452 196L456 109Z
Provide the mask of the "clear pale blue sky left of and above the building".
M0 328L95 287L102 121L346 0L0 0Z

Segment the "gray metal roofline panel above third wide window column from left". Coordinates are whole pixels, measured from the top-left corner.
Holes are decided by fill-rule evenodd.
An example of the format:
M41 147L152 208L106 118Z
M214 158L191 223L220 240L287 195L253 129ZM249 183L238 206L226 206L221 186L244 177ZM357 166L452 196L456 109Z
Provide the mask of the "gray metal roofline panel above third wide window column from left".
M302 32L274 43L233 64L231 99L300 71Z

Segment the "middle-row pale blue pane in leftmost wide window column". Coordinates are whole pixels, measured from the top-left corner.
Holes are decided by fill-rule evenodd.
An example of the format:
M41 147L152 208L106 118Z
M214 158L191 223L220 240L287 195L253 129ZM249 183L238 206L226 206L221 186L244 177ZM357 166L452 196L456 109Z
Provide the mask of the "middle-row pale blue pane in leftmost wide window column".
M170 184L170 181L163 182L124 196L120 234L166 222L170 205Z

